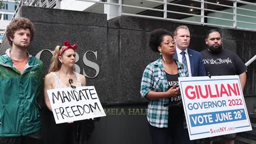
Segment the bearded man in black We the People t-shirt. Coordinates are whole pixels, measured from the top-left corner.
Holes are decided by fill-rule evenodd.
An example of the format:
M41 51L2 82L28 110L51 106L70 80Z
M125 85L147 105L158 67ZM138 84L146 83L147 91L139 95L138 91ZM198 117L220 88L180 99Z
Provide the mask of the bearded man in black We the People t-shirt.
M219 31L216 29L209 30L206 34L205 44L207 49L202 51L201 55L206 74L211 76L238 75L242 90L244 90L247 67L236 53L222 49ZM222 138L224 143L233 144L236 134L222 135Z

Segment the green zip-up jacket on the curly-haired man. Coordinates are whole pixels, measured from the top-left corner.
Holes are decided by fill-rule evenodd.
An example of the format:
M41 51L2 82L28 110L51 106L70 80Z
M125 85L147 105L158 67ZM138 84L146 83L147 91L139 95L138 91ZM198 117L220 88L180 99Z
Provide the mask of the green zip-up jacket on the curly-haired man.
M41 60L29 55L20 74L10 58L10 49L0 56L0 136L17 137L41 129L37 96L43 88L42 78Z

